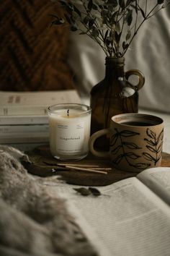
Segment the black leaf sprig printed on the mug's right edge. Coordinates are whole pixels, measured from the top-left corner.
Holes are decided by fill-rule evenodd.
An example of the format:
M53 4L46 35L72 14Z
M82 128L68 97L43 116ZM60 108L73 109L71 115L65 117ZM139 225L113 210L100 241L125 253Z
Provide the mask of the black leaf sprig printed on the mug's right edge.
M143 152L144 158L146 160L151 161L155 164L161 159L161 152L162 152L162 145L163 145L163 137L164 137L164 129L161 130L158 137L156 137L156 132L153 132L150 128L146 130L146 137L144 140L146 140L147 144L146 148L155 155L151 155L150 153Z

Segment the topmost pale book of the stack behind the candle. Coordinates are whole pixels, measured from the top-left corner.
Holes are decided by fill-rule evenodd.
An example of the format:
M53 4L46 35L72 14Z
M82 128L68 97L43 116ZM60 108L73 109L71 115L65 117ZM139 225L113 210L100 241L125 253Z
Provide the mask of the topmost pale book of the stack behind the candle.
M0 92L0 115L47 114L48 106L81 103L76 90Z

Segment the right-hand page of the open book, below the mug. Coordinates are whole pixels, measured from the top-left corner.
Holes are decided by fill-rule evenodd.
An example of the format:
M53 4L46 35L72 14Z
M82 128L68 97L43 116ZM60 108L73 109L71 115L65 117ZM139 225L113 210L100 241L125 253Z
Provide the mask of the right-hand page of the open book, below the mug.
M170 205L170 167L149 168L137 177Z

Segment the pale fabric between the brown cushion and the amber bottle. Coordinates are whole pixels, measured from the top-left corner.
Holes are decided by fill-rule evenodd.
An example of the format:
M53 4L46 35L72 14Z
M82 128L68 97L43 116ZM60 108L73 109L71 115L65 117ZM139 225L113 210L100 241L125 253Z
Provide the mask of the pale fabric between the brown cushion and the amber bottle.
M104 52L94 40L79 33L71 33L68 51L76 90L82 98L89 98L91 88L104 78Z

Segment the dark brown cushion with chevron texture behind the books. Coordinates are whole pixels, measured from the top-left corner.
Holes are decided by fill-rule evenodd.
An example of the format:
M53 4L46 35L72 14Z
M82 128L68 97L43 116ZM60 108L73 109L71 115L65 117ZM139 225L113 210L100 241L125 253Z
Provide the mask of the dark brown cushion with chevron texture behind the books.
M66 64L67 27L51 27L61 14L50 0L0 1L0 90L73 88Z

